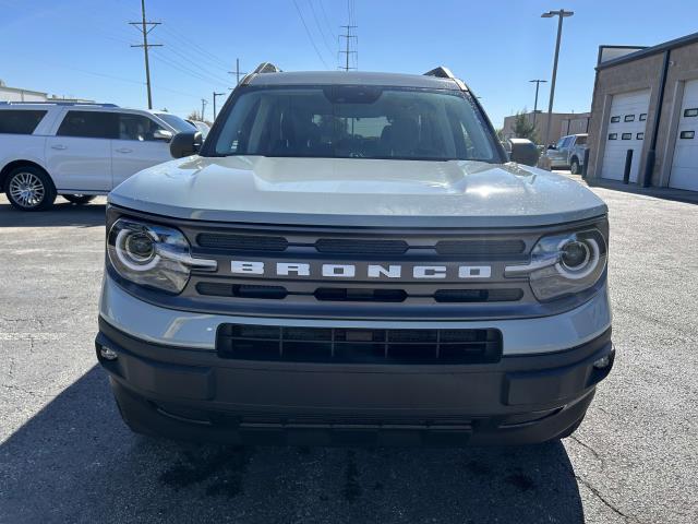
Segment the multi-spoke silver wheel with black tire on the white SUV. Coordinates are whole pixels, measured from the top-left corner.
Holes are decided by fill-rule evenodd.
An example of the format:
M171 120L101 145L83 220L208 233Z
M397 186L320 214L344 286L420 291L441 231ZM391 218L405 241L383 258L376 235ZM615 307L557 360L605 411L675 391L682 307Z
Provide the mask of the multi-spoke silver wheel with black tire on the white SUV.
M44 211L53 205L56 188L51 178L35 166L20 166L8 175L4 190L10 204L21 211Z

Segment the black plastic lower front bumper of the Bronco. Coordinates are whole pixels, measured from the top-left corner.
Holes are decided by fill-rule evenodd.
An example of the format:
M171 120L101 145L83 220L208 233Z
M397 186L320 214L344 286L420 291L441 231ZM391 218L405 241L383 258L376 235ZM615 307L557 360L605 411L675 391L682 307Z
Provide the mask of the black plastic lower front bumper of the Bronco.
M408 366L227 360L136 338L103 318L99 329L97 357L133 429L233 443L542 442L583 418L614 357L611 330L496 364ZM103 357L105 346L116 359Z

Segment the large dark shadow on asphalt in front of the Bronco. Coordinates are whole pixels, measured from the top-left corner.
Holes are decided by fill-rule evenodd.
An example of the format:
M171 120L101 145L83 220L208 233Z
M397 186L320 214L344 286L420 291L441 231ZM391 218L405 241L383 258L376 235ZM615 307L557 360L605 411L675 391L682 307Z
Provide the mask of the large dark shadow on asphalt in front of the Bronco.
M583 522L564 446L305 449L131 434L97 367L0 445L0 522Z

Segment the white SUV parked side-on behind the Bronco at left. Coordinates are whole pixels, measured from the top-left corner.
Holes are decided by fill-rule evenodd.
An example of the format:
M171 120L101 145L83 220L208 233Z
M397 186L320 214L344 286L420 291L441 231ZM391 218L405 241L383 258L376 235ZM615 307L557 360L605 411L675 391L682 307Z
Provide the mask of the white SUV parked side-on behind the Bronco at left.
M0 103L0 191L23 211L46 210L57 194L83 204L171 160L172 135L192 130L168 112L112 104Z

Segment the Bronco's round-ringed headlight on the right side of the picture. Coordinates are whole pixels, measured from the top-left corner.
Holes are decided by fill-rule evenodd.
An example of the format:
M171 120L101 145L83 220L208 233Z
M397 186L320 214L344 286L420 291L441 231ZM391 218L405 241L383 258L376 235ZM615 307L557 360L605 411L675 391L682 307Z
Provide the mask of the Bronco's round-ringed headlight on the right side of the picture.
M505 275L528 275L533 295L545 301L593 286L606 259L606 241L598 229L552 235L538 241L529 264L508 265Z

